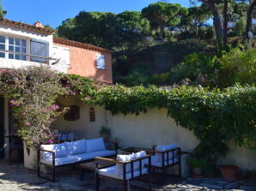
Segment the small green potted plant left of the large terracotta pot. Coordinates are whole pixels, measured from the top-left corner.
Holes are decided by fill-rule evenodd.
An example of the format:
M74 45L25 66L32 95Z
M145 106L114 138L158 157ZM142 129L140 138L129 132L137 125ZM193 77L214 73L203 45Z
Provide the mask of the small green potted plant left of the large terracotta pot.
M192 167L192 176L202 177L204 176L204 168L207 166L207 161L203 158L190 158L189 164Z

